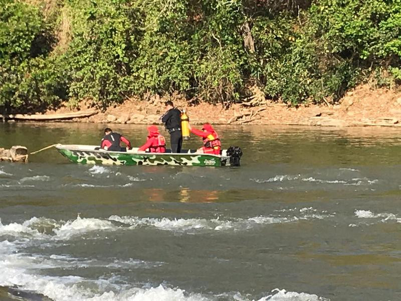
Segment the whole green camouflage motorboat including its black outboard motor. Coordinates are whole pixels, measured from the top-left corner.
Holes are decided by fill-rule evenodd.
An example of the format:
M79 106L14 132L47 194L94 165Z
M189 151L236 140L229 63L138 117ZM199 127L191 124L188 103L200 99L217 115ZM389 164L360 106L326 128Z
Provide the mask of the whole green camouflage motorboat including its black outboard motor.
M222 155L199 154L196 150L185 153L143 153L138 147L127 152L99 149L97 145L57 144L58 151L68 160L79 164L97 165L176 165L176 166L240 166L242 150L231 146Z

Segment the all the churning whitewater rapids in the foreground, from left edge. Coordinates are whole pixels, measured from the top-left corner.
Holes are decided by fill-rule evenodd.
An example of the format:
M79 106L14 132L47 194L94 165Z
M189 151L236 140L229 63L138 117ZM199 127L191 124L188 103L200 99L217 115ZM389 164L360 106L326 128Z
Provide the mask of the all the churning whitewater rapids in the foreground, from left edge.
M293 210L295 211L295 210ZM301 213L299 217L271 218L253 217L246 220L227 221L221 219L154 219L137 217L110 216L108 219L81 218L75 220L56 221L49 218L33 217L22 223L3 224L0 221L0 286L18 287L20 290L34 291L43 294L55 301L207 301L217 300L221 297L235 301L254 300L240 292L227 292L219 295L187 292L179 287L171 287L168 283L152 287L149 284L135 286L132 283L121 283L118 276L102 279L89 279L80 276L50 276L42 270L62 268L74 271L76 268L102 267L108 269L135 269L153 268L163 265L163 262L145 262L130 259L121 261L116 258L96 260L93 258L75 258L69 255L49 256L26 253L24 248L33 244L68 243L68 240L82 239L85 235L91 239L97 237L99 232L107 231L134 231L138 227L154 227L163 231L189 231L189 230L249 230L260 225L274 223L298 222L302 219L313 219L307 216L312 208L296 210ZM326 215L328 216L328 215ZM324 218L319 216L317 218ZM113 221L118 222L118 225ZM91 235L90 235L91 234ZM269 294L258 298L265 300L291 300L291 301L318 301L325 300L314 294L304 292L286 291L285 289L272 289Z

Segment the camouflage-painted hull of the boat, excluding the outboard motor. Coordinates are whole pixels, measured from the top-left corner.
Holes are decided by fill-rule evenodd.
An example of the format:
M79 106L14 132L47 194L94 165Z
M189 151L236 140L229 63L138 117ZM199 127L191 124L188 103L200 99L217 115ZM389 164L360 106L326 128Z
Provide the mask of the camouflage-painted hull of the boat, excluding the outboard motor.
M58 151L68 160L78 164L96 165L174 165L174 166L226 166L227 157L207 154L155 154L134 152L106 152L83 148L56 146Z

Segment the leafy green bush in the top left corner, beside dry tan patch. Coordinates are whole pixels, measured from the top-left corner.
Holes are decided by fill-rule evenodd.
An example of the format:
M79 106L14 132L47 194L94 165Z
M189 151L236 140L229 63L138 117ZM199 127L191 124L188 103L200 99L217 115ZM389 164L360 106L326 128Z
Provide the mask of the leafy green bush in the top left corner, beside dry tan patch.
M39 8L3 0L0 6L0 105L48 107L65 99L68 82L50 57L53 36Z

